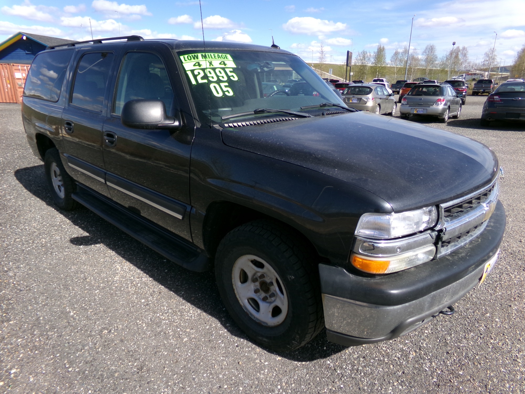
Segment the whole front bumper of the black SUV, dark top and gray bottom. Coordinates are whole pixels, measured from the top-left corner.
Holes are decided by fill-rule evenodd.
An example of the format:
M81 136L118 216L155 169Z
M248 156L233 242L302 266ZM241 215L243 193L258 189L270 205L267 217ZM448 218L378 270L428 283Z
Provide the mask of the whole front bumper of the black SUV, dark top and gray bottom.
M378 278L320 264L328 339L344 346L371 344L427 323L476 286L487 262L497 258L505 223L505 209L498 202L486 229L466 246Z

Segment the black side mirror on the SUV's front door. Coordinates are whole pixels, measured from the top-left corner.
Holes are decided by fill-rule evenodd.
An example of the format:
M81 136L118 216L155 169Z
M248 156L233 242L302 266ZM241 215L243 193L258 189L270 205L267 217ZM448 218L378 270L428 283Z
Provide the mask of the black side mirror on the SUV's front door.
M178 130L182 127L180 120L166 115L162 100L130 100L122 108L120 121L133 129Z

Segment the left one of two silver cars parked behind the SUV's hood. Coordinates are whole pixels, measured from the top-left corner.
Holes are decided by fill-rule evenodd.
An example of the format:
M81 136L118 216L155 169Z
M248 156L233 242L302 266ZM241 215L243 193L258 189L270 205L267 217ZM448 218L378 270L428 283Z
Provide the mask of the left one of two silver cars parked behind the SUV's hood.
M350 85L343 91L343 101L347 107L393 116L397 108L394 94L384 86L376 84Z

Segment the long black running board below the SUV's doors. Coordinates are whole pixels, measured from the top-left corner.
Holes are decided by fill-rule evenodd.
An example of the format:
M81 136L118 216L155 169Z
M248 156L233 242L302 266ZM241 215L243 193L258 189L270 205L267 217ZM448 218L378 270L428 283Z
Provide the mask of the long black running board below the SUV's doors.
M211 269L211 260L201 249L87 186L77 183L77 191L72 194L72 198L168 260L191 271L204 272Z

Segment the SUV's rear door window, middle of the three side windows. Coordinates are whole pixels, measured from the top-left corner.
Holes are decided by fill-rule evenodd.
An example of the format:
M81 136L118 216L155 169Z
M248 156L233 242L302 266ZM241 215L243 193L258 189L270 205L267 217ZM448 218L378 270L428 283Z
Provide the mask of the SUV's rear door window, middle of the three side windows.
M82 56L75 73L71 103L102 111L113 54L96 52Z

